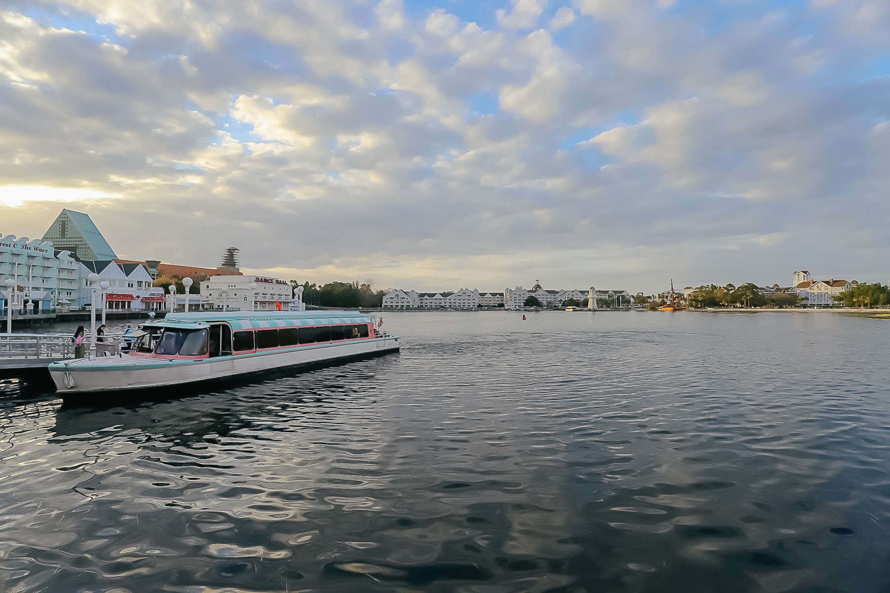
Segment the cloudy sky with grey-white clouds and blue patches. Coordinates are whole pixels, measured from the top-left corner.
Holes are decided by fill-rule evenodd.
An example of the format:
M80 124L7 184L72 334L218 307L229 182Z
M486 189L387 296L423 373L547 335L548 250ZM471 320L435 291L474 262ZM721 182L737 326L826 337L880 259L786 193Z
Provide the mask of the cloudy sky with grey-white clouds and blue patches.
M377 287L890 280L887 0L0 0L0 233Z

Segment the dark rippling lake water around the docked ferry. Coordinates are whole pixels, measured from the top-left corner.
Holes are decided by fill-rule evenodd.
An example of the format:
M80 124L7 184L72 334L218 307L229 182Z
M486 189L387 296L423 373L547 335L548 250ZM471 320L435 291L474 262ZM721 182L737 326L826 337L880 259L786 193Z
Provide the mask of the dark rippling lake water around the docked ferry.
M527 315L166 400L0 385L0 590L890 588L890 320Z

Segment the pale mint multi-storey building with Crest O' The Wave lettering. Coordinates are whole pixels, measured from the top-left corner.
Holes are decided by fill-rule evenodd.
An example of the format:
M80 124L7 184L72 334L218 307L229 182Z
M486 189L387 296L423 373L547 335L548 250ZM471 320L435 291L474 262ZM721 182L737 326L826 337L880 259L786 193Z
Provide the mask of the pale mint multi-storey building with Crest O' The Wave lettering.
M77 260L70 252L56 249L50 241L0 233L0 281L6 278L15 280L28 307L36 310L68 309L79 292ZM0 292L2 309L6 292Z

